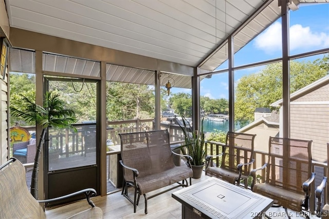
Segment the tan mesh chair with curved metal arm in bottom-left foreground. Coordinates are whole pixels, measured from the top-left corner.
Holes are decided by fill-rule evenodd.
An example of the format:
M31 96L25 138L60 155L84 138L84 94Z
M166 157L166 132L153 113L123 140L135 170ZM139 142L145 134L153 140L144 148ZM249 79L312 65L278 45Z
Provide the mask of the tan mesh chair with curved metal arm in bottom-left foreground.
M0 167L0 218L46 218L40 203L59 201L71 196L85 194L92 208L88 208L70 218L103 218L102 209L95 207L90 197L96 195L94 189L84 189L51 200L35 200L26 186L25 169L22 163L12 157Z

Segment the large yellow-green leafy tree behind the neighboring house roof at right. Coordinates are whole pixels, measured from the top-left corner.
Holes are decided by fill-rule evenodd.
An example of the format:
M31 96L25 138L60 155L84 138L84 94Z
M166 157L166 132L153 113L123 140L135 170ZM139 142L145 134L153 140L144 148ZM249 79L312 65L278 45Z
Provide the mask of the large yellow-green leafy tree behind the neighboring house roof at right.
M290 93L315 82L327 73L327 69L315 63L291 61ZM235 122L239 122L241 127L247 125L254 120L255 108L275 110L270 104L281 98L282 63L269 64L258 73L241 77L235 88Z

